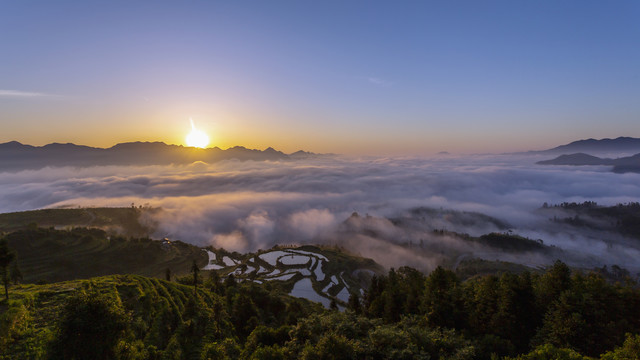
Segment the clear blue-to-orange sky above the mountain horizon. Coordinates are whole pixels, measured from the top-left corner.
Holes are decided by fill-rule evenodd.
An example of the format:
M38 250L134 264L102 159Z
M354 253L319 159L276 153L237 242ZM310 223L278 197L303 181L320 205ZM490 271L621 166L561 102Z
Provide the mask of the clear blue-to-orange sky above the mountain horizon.
M2 1L0 142L431 155L640 137L637 1Z

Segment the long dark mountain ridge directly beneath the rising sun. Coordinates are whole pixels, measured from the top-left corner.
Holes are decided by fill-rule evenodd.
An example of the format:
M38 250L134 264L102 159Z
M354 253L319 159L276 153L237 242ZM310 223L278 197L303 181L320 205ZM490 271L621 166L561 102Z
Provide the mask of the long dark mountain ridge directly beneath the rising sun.
M226 150L218 147L199 149L163 142L127 142L110 148L96 148L72 143L51 143L32 146L11 141L0 144L0 171L39 169L46 166L104 166L104 165L168 165L207 163L221 160L280 161L319 156L298 151L285 154L271 147L265 150L235 146Z

